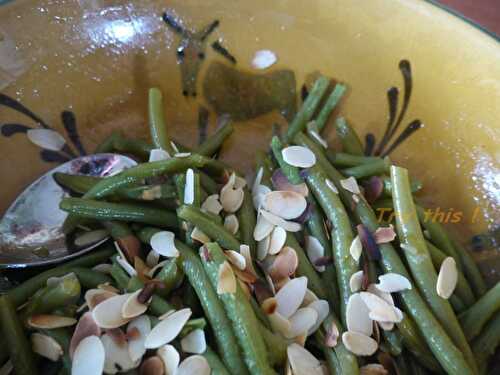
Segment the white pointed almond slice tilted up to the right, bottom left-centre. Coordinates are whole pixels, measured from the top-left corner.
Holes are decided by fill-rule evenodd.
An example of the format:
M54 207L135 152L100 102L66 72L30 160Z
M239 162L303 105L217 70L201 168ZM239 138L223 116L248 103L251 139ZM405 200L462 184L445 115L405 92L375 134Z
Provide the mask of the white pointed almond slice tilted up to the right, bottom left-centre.
M160 321L146 337L146 349L157 349L175 339L191 316L191 309L182 309Z

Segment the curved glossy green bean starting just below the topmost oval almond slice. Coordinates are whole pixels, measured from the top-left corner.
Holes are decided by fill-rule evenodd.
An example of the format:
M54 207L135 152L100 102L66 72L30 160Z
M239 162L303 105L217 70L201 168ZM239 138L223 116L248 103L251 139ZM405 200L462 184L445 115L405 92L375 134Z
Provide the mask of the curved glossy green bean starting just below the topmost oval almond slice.
M340 311L342 321L345 324L347 301L352 294L349 280L358 271L358 265L349 253L349 248L354 239L351 223L339 196L328 187L326 175L318 165L309 169L306 182L326 216L332 222L333 260L341 297Z

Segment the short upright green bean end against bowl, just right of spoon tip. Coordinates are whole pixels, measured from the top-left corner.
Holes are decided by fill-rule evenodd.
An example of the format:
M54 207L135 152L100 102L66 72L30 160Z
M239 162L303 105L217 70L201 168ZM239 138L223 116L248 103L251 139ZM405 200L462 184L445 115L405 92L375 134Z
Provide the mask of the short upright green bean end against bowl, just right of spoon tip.
M171 156L174 155L175 150L170 144L165 115L163 113L163 95L160 89L156 87L149 89L148 110L149 131L151 132L154 145L157 148L167 151Z

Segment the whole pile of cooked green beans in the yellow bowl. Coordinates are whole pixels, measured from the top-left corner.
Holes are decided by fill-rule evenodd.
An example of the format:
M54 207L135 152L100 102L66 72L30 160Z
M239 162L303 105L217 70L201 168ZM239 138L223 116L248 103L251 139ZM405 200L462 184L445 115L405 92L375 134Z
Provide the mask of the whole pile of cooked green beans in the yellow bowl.
M307 203L303 215L294 219L303 224L301 230L283 237L282 248L288 248L296 264L286 265L294 267L287 270L289 278L275 280L269 269L281 252L258 259L266 242L256 241L254 231L262 224L262 210L268 208L265 204L255 206L259 197L252 186L241 187L239 197L243 199L236 211L214 213L204 205L210 195L217 194L222 201L221 195L227 191L224 185L233 172L237 173L218 160L224 142L237 131L230 119L224 117L215 133L198 146L173 143L163 95L159 89L150 89L151 142L127 139L115 132L96 149L131 154L141 161L137 166L106 178L54 175L56 182L72 193L60 203L70 214L65 229L73 231L82 220L91 228L104 228L120 254L115 246L105 243L1 296L0 343L7 350L0 351L0 365L10 360L18 375L40 373L47 359L32 351L31 335L37 332L61 346L62 355L52 367L60 374L69 374L74 327L36 328L29 324L30 318L46 314L78 320L89 308L84 304L86 292L108 288L120 294L149 293L145 314L153 326L174 310L191 308L191 320L172 345L186 357L189 353L182 352L181 338L195 329L203 330L207 345L201 355L214 375L272 375L286 373L288 365L292 372L297 371L294 358L288 360L294 343L335 375L363 374L367 371L364 366L374 363L391 363L390 371L401 375L487 374L488 362L500 343L500 283L488 289L468 251L441 224L425 220L418 197L420 181L388 158L365 156L360 137L345 118L330 121L345 91L344 85L332 85L321 76L286 134L274 135L268 150L256 150L255 174L261 175L260 184L279 190L284 176L286 189L300 191ZM332 122L342 150L320 144L319 135L313 137L310 127L306 132L310 121L315 122L318 132L325 132ZM282 150L292 145L309 149L316 159L314 165L299 168L288 164ZM155 148L170 157L146 162ZM178 155L178 150L189 155ZM194 200L186 203L189 169ZM379 194L369 203L362 191L358 194L347 187L348 178L365 187L374 179L379 183ZM394 215L388 222L380 221L376 207L391 208ZM229 217L233 213L234 217ZM236 229L226 219L236 220ZM377 229L388 224L394 225L395 240L371 243L361 238L362 229L366 236L375 238ZM281 224L271 225L269 242L274 228ZM200 236L193 235L195 230ZM153 249L152 239L164 231L175 236L171 244L178 252L175 258L165 258ZM351 253L357 235L363 244L359 259ZM312 240L321 246L322 257L313 258ZM451 297L444 299L436 285L448 257L455 259L457 282ZM361 285L354 290L353 278L360 271ZM221 290L224 273L227 280L234 278L232 291ZM411 284L411 289L392 293L401 317L392 327L385 327L387 330L382 323L371 322L377 350L371 356L356 355L344 341L349 332L350 298L358 292L368 293L373 287L370 284L386 273L399 274ZM294 315L290 320L278 316L278 297L280 288L296 277L307 280L308 302L304 297L301 312L311 314L308 304L316 300L328 305L328 311L314 331L291 338L282 330L284 321L292 327ZM148 350L146 357L154 354ZM302 361L306 366L307 361Z

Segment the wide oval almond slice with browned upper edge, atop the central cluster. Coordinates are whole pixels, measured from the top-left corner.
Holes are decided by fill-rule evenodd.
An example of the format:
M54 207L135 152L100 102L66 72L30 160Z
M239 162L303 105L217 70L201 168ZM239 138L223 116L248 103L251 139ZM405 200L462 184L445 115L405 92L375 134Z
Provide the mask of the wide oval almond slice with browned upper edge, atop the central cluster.
M266 194L263 207L276 216L291 220L302 215L307 207L307 202L302 194L278 190Z

